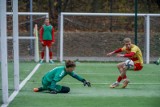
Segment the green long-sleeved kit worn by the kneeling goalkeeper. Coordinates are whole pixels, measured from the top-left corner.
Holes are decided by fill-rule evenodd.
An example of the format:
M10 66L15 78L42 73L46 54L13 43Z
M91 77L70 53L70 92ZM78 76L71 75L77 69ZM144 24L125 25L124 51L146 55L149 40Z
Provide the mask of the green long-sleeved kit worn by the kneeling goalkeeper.
M44 75L44 77L42 78L43 88L49 88L51 90L59 92L61 90L61 86L56 85L56 83L61 81L68 74L81 82L85 81L85 79L77 75L74 71L67 72L64 66L60 66L52 69Z

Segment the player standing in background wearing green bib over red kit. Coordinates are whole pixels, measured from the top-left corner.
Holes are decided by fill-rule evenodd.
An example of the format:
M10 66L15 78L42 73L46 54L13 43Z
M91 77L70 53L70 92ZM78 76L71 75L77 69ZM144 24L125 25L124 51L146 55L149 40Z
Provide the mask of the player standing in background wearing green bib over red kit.
M44 61L44 53L45 53L45 47L47 46L49 49L49 63L54 63L52 56L52 45L55 43L54 38L54 28L50 24L49 19L46 18L44 21L44 25L40 28L40 42L42 44L42 50L41 50L41 60L40 63L43 63Z

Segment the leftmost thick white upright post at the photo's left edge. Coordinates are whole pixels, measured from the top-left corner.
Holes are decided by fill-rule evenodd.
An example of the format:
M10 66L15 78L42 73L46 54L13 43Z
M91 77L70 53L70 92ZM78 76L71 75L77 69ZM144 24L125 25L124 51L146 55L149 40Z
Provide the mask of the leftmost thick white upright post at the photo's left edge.
M0 0L2 101L8 102L7 17L6 0Z

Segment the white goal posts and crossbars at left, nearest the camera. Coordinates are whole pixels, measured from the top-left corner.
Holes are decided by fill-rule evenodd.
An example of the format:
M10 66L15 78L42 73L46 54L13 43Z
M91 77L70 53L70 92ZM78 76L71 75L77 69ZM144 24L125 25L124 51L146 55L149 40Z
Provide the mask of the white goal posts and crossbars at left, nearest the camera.
M1 76L2 76L2 101L4 106L7 105L13 97L16 96L22 88L19 79L19 39L36 39L35 37L19 37L18 16L19 15L44 15L49 17L48 13L42 12L18 12L18 0L13 1L13 12L7 12L6 0L0 0L0 30L1 30ZM13 15L13 38L7 37L7 15ZM8 62L7 62L7 39L13 39L14 48L14 92L8 94ZM48 49L46 48L46 61L49 61ZM24 83L23 83L24 85Z

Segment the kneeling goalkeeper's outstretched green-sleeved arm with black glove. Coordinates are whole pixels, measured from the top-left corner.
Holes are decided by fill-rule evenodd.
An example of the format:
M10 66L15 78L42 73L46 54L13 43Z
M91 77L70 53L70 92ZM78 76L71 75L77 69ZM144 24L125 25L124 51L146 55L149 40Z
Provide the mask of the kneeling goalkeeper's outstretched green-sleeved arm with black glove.
M88 87L91 87L91 83L86 81L84 78L80 77L79 75L77 75L75 72L71 72L69 73L70 76L72 76L73 78L81 81L83 83L84 86L88 86Z

